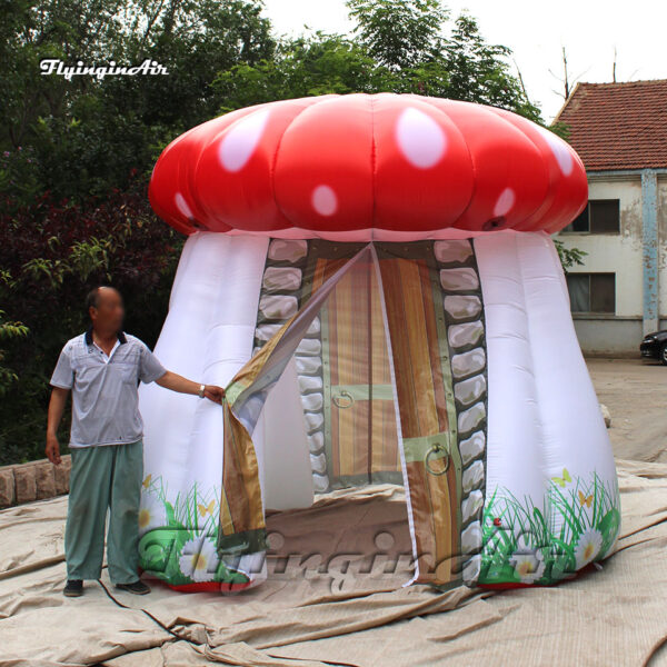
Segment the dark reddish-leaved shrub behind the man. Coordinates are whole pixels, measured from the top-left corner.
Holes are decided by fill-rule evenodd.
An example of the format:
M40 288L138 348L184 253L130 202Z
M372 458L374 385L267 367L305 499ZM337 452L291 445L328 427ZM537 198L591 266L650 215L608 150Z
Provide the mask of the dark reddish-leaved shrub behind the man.
M118 288L126 329L152 346L181 246L136 175L103 200L54 201L49 192L29 205L0 200L0 464L43 456L50 372L63 344L87 327L88 290Z

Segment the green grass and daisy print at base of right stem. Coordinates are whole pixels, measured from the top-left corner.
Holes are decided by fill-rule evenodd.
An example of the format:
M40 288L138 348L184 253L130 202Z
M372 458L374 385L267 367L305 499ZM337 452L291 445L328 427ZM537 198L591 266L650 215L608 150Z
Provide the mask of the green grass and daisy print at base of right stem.
M560 528L556 528L557 522ZM541 508L496 489L485 505L479 584L556 584L601 560L620 529L617 485L551 478Z

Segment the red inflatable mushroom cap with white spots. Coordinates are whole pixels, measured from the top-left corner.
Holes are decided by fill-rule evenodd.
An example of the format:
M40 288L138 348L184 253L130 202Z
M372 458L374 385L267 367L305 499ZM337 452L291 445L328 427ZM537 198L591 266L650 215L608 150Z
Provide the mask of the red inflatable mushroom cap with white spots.
M172 141L149 197L186 233L436 238L546 230L586 205L586 171L552 132L509 111L415 94L259 104Z

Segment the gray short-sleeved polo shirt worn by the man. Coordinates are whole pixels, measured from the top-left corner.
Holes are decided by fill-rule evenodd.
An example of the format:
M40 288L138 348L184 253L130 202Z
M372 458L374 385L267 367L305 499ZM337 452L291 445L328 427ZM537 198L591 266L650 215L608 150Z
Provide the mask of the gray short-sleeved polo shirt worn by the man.
M167 370L138 338L118 335L111 355L92 341L92 330L68 340L51 385L72 390L70 447L137 442L143 437L139 380L152 382Z

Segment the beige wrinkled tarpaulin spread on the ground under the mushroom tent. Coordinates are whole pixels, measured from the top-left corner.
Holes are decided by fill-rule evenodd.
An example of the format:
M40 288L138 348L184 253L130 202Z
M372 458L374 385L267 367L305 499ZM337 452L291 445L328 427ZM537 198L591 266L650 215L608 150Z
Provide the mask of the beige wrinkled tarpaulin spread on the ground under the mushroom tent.
M66 498L8 509L0 665L664 665L667 465L617 465L621 534L603 571L501 593L401 588L409 564L391 564L409 552L409 535L402 490L389 485L271 515L269 579L233 597L157 585L137 598L113 591L104 574L131 609L92 583L82 599L62 597Z

